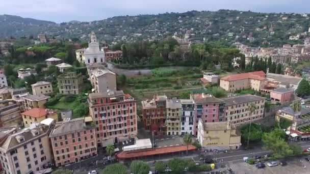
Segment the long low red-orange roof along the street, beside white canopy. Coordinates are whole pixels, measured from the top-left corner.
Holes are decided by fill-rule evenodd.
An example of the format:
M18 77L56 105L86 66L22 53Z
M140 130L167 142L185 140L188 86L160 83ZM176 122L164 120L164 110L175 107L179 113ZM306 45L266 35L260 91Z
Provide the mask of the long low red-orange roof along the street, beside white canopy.
M119 159L132 159L139 158L145 156L152 155L162 155L169 153L177 153L177 152L186 152L187 146L175 146L175 147L167 147L167 148L157 148L157 149L149 149L149 150L141 150L141 151L123 151L116 155ZM189 145L189 151L196 150L196 147Z

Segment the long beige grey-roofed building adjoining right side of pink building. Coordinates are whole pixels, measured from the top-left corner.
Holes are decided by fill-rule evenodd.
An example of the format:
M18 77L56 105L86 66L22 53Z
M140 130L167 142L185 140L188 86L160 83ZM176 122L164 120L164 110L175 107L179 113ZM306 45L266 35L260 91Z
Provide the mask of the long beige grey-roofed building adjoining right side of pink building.
M252 121L264 118L265 98L254 95L243 95L237 97L223 98L225 101L225 121L232 124L242 124L250 122L251 103L256 105L254 113L252 113Z

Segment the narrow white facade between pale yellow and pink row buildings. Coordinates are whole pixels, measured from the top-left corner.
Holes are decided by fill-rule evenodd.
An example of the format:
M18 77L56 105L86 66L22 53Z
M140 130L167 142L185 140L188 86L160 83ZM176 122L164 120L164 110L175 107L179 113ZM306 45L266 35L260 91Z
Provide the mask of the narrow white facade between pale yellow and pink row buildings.
M181 134L189 133L194 135L194 122L195 122L195 104L193 100L181 99L182 117L181 117Z

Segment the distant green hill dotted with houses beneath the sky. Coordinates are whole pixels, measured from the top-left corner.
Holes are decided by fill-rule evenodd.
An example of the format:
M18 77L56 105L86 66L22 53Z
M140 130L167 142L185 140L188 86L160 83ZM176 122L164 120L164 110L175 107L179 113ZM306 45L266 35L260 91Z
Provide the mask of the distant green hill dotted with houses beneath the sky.
M18 16L0 16L0 37L36 36L45 32L48 37L88 39L88 34L94 31L99 40L108 43L122 39L163 39L174 34L184 37L191 30L191 40L281 46L285 43L302 43L302 39L309 36L304 33L309 27L310 20L306 15L236 10L117 16L91 22L70 21L60 24ZM301 33L301 40L289 41L289 36Z

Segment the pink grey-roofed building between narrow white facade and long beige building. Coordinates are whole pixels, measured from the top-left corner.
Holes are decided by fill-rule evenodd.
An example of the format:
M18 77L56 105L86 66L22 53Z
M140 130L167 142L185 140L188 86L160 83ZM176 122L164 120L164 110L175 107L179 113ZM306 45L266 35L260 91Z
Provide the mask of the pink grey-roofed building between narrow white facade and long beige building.
M198 120L201 118L203 123L224 121L225 102L221 99L207 94L193 94L191 99L195 103L194 135L197 136Z

